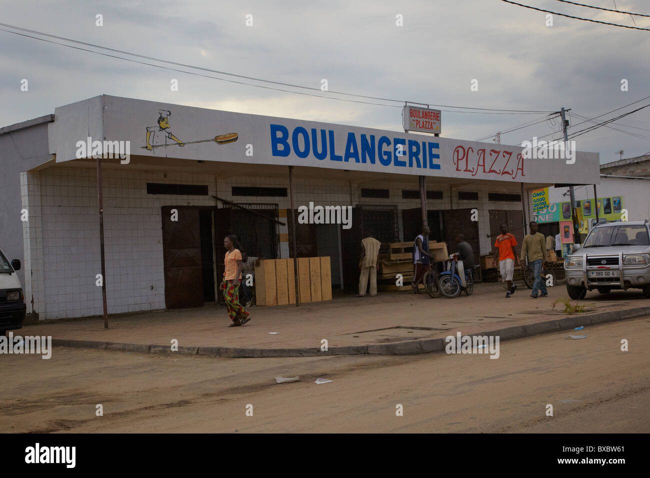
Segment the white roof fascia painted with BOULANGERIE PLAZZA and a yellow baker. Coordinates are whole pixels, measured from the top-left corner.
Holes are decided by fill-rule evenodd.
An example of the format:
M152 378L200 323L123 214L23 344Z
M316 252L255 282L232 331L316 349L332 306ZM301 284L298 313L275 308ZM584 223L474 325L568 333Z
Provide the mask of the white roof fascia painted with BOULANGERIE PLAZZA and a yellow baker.
M50 149L75 159L86 137L129 141L131 156L223 163L491 179L523 183L599 183L597 153L567 165L524 159L521 146L484 143L98 96L55 110ZM125 167L128 165L125 165Z

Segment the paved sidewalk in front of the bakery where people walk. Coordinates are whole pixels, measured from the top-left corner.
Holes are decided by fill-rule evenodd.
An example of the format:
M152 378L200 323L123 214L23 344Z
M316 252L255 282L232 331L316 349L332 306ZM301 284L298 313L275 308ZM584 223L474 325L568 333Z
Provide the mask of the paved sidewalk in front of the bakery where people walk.
M568 321L562 321L568 317L562 312L564 305L551 309L554 300L567 297L564 285L549 287L549 297L545 298L530 298L530 289L523 283L510 299L504 295L500 284L476 284L473 295L461 293L455 299L430 299L426 293L410 292L376 297L341 295L329 302L300 307L249 308L252 321L232 328L228 327L226 308L212 304L109 316L108 330L103 328L103 319L94 318L38 323L14 334L52 336L54 345L59 346L136 352L165 352L172 339L177 339L181 353L212 356L317 355L322 339L328 340L331 354L401 354L439 350L441 342L432 339L456 332L474 335L500 331L501 339L508 339L562 330L574 323L587 327L592 323L590 317L597 317L594 323L600 323L643 315L639 308L650 313L650 300L643 299L640 291L588 293L580 301L592 304L587 313L572 315ZM619 311L623 310L629 312L621 317Z

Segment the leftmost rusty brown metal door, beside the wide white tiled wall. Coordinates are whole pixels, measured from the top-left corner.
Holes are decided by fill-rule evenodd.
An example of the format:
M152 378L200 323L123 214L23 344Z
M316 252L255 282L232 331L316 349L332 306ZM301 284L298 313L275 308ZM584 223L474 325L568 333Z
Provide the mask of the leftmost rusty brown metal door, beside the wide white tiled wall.
M198 209L162 208L164 300L168 309L203 305L201 233ZM177 209L178 220L172 220Z

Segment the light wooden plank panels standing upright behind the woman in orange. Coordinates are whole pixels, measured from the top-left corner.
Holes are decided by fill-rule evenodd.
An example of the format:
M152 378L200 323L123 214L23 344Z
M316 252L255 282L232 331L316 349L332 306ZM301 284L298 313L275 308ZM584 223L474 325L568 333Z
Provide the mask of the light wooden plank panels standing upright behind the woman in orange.
M330 256L298 258L300 303L331 300ZM255 267L255 303L281 306L296 303L293 259L263 259Z

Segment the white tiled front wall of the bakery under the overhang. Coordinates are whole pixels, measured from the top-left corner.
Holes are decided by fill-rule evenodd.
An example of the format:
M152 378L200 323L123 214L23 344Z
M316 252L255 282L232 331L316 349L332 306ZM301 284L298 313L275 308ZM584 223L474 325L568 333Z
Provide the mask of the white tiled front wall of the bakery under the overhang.
M21 175L23 207L29 209L29 222L23 224L25 237L25 297L41 319L101 315L101 287L96 275L101 272L99 255L99 215L95 170L53 167L38 173ZM146 193L146 183L184 183L208 185L208 196L167 196ZM188 173L103 171L104 230L107 297L109 313L136 312L164 308L161 207L171 205L214 206L211 195L233 202L267 202L288 209L289 198L233 197L232 186L264 185L289 187L288 179L238 176L218 179ZM419 207L419 199L402 199L402 189L418 189L417 178L404 183L350 185L348 181L322 181L294 178L296 207L313 201L322 206L356 206L357 204L396 204L402 235L402 209ZM361 187L390 189L389 199L360 197ZM428 201L430 209L448 209L448 187L428 185L429 190L443 190L444 200ZM477 207L482 253L489 252L488 209L521 209L512 203L490 204L488 192L498 191L486 185L467 186L478 191L478 204L458 202L454 189L453 207ZM517 187L508 192L518 193ZM334 229L332 229L334 230ZM335 236L321 237L323 246L333 254ZM408 238L407 238L408 239ZM287 250L282 250L282 255ZM29 269L28 269L29 267ZM333 260L332 278L338 277L338 261ZM28 309L31 306L28 307Z

